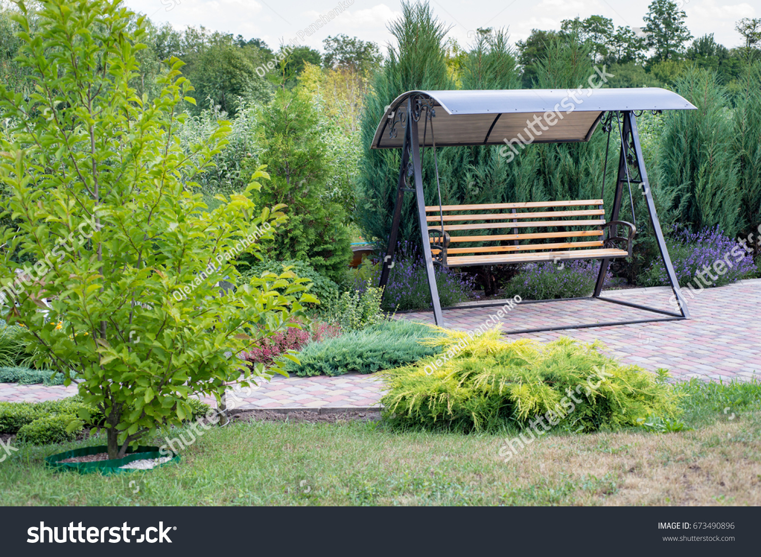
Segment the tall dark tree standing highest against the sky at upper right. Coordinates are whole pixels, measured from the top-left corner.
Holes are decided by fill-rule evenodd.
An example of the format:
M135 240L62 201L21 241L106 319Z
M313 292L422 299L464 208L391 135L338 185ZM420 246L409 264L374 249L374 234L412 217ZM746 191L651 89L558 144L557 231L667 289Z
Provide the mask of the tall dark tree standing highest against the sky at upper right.
M687 29L687 14L671 0L653 0L648 6L644 31L647 44L654 49L652 60L663 62L679 59L684 52L684 43L693 38Z

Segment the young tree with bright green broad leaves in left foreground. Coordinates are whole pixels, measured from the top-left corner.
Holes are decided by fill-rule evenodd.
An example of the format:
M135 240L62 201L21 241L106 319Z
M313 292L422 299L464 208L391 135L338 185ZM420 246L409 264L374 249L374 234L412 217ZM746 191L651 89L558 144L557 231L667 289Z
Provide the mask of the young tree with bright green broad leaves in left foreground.
M18 61L37 85L29 97L0 88L2 117L13 122L0 153L13 219L0 239L8 320L24 324L59 369L76 372L84 401L106 416L109 456L120 457L189 416L192 394L221 397L241 372L244 384L256 377L234 355L315 300L285 275L239 281L226 295L214 286L237 280L231 262L256 252L284 216L255 207L256 182L219 196L210 212L189 192L229 125L183 151L178 107L192 87L176 59L154 101L135 95L142 18L129 27L119 0L36 5L37 33L23 2L15 19ZM37 263L9 283L12 253ZM52 309L40 312L40 299Z

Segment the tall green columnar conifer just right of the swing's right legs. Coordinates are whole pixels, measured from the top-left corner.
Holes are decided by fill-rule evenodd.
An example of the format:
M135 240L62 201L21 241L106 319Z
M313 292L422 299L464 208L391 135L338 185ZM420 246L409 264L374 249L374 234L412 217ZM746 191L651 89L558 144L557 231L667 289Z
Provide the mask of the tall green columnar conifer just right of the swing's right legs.
M734 131L726 90L712 72L692 69L677 92L697 110L665 116L658 153L658 190L673 217L697 231L718 226L733 236L742 226Z

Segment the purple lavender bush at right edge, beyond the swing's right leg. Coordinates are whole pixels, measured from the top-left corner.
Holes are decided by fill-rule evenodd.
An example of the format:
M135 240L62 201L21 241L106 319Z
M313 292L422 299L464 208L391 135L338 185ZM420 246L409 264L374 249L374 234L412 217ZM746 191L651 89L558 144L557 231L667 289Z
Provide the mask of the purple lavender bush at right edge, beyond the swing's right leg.
M756 271L753 255L746 252L733 239L724 236L718 227L705 228L697 233L679 232L674 229L670 238L667 239L667 245L680 286L685 286L692 281L696 281L696 285L701 287L723 286L737 282ZM722 266L726 268L724 274L715 271L716 261L723 262ZM708 282L707 285L696 278L696 274L699 271L705 271L706 266L710 270L710 274L703 274ZM644 286L667 285L668 277L663 261L655 261L642 275L640 282Z

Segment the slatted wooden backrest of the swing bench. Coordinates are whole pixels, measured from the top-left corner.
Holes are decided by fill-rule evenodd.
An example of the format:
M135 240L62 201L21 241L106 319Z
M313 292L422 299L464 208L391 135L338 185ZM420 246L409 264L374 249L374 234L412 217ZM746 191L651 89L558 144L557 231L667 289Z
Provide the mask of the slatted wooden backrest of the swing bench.
M441 230L443 217L444 231L450 235L451 242L508 241L512 244L498 248L450 248L448 252L453 254L603 245L601 226L605 223L605 210L602 199L444 205L441 211L438 205L430 205L425 207L425 213L430 230ZM499 229L510 233L492 233L492 230ZM479 230L485 233L469 233ZM567 239L571 238L581 240L569 242ZM558 243L552 239L566 241Z

